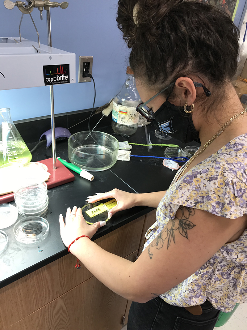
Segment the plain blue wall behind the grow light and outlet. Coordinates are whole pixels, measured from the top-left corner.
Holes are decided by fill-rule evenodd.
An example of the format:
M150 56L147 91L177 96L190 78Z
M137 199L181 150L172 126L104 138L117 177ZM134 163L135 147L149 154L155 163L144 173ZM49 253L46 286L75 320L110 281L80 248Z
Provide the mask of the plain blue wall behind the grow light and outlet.
M117 28L117 0L68 0L67 9L51 9L52 46L76 54L76 75L79 55L93 55L93 77L96 83L96 103L107 103L124 83L129 49ZM42 44L47 44L46 12L32 12ZM18 37L21 12L7 10L0 1L0 36ZM23 38L37 41L29 15L21 25ZM0 63L1 65L1 63ZM20 63L26 65L28 63ZM77 81L76 77L76 81ZM54 86L55 113L92 108L93 82ZM0 108L11 108L13 120L50 115L49 87L33 87L0 91Z

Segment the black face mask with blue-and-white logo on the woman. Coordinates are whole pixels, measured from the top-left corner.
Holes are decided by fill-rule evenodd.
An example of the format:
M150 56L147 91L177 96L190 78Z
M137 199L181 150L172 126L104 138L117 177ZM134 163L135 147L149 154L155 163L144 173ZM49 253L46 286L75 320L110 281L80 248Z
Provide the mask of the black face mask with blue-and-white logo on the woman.
M200 142L191 115L185 114L183 107L175 106L166 101L154 113L154 126L162 133L172 136L182 143Z

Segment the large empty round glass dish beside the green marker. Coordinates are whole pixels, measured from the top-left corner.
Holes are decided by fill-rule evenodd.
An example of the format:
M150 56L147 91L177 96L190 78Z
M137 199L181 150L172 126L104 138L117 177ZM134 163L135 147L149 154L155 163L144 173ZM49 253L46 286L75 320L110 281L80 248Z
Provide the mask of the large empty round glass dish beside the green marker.
M112 135L98 131L78 132L69 137L69 160L83 170L98 172L117 161L119 142Z

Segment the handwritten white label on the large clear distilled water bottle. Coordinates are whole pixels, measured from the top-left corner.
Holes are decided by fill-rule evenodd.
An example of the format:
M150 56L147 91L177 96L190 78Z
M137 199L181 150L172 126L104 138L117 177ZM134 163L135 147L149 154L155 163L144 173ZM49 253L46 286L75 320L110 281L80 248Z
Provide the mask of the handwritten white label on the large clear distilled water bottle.
M138 123L139 113L136 107L127 107L113 102L112 120L123 125L134 125Z

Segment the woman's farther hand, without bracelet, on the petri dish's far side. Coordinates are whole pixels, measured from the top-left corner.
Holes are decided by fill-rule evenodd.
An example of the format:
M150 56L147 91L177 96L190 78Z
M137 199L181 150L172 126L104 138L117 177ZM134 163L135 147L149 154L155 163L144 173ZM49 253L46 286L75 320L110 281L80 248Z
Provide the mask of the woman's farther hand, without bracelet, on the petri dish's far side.
M117 213L118 211L127 210L132 208L133 206L136 206L136 195L132 194L130 192L122 191L117 188L104 192L104 193L97 193L94 196L88 196L88 199L86 199L86 202L88 203L95 203L97 201L101 201L102 199L107 198L115 198L117 201L117 205L114 206L109 212L108 216L109 219Z

